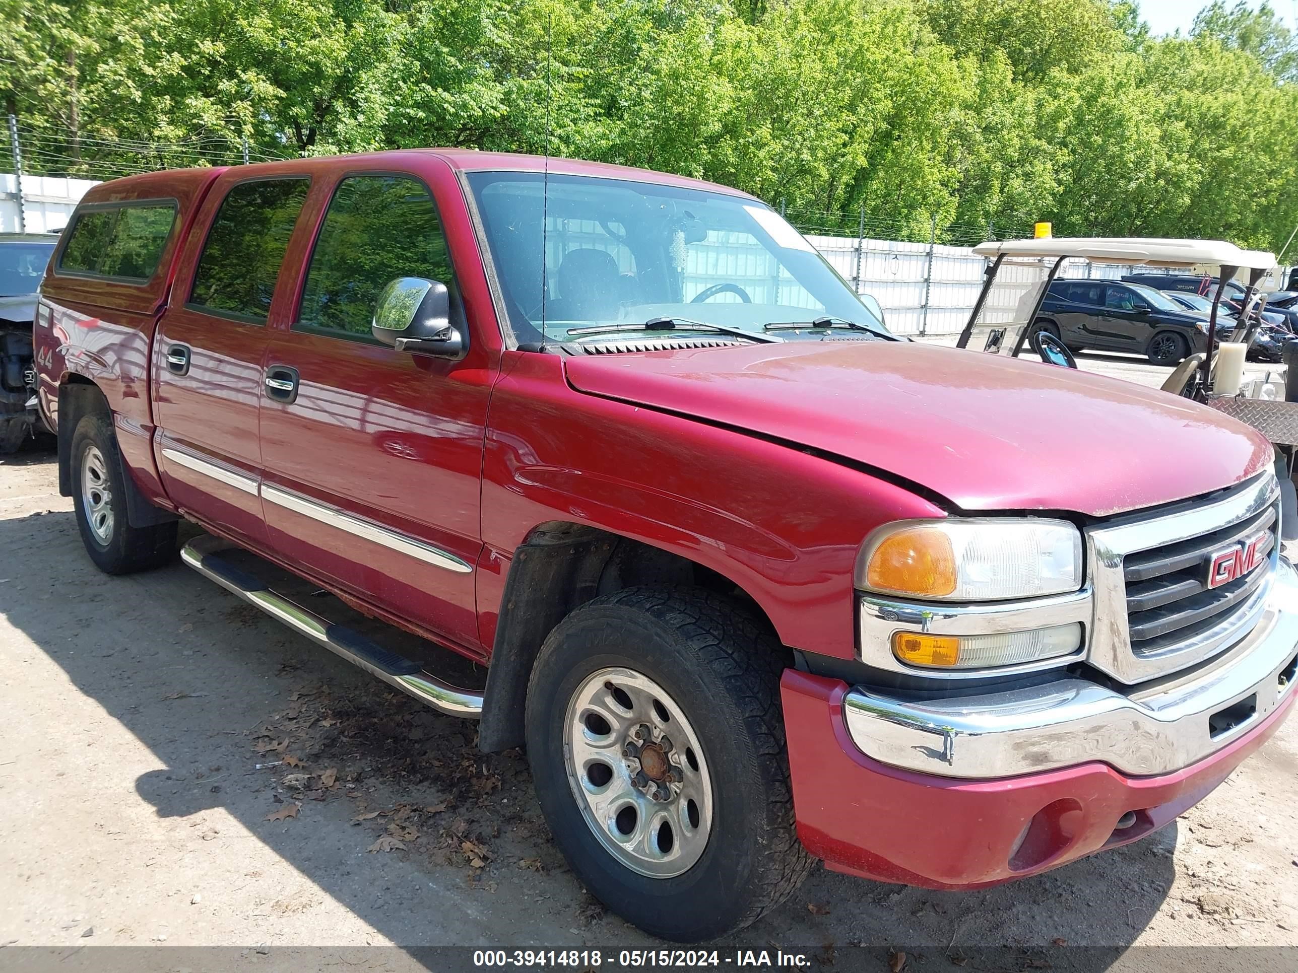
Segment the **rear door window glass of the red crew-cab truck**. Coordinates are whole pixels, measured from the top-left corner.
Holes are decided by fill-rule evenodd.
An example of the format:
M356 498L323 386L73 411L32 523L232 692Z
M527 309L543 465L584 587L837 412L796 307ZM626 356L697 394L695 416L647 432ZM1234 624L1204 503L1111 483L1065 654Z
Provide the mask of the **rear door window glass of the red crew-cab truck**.
M235 186L202 244L190 304L263 323L309 186L305 178Z

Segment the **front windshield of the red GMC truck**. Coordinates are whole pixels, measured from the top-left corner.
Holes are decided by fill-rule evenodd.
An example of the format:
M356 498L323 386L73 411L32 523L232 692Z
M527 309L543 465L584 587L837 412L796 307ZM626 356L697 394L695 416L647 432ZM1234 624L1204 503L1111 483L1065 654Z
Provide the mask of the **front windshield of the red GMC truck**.
M569 341L592 326L643 331L655 320L754 335L816 319L884 331L815 248L755 200L554 174L546 192L540 173L471 173L469 186L520 342L540 340L543 326L546 340Z

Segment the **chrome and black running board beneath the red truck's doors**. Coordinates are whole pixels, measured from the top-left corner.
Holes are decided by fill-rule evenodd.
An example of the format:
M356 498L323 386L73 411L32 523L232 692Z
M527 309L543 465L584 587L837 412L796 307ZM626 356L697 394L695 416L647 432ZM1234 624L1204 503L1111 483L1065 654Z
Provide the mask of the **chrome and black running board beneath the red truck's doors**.
M308 611L301 605L267 588L256 575L231 564L219 551L232 545L219 537L196 537L180 549L180 558L204 577L227 592L261 608L295 632L319 642L335 655L358 666L371 676L448 716L478 719L483 712L483 694L444 682L423 671L417 662L397 655L378 642L345 625Z

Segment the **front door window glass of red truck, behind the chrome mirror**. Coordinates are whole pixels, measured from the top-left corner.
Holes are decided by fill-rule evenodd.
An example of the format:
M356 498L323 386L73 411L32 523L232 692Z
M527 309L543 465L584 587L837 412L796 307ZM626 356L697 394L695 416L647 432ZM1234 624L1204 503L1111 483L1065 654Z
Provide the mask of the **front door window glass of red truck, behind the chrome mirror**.
M324 213L293 327L367 337L379 292L396 278L452 285L432 196L414 176L349 176Z

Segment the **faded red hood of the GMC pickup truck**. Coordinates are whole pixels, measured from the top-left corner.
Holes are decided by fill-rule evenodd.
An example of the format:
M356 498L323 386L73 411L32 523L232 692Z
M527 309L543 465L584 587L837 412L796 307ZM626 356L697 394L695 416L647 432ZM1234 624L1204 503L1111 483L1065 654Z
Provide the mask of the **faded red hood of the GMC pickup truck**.
M1262 436L1188 400L954 348L790 341L582 355L565 368L580 392L806 445L966 511L1105 516L1228 486L1272 461Z

